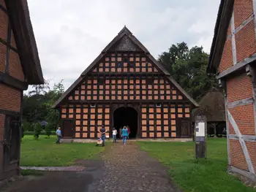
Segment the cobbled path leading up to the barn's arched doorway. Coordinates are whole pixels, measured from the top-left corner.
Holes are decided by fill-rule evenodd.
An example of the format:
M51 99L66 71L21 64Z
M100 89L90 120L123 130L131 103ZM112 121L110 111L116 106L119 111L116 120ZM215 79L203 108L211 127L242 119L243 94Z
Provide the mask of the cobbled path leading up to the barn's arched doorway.
M151 191L178 192L170 183L167 169L138 149L133 142L126 146L115 144L102 155L102 176L90 191Z

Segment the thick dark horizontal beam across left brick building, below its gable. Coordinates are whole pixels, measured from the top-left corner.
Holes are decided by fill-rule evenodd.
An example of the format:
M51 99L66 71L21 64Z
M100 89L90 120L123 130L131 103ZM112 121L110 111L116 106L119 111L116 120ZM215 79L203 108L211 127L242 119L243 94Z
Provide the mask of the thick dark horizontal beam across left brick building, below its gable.
M20 80L11 77L9 74L4 72L0 72L0 83L10 85L12 88L16 88L19 90L27 90L28 84L26 82L22 82Z

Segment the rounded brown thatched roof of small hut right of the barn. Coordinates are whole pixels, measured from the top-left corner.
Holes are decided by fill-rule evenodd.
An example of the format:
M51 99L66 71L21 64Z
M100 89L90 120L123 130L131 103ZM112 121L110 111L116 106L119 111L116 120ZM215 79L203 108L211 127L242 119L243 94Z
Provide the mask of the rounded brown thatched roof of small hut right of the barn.
M225 121L225 101L222 92L212 89L199 102L200 107L192 111L192 120L195 116L206 115L207 122Z

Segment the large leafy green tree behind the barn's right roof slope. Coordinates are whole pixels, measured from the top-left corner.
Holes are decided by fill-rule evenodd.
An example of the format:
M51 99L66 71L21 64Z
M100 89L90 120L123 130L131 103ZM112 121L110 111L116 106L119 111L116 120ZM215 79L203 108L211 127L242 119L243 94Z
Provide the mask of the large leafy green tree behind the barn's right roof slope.
M218 88L214 74L207 74L208 54L203 47L189 47L185 42L172 45L167 52L159 55L173 78L196 100L200 100L211 88Z

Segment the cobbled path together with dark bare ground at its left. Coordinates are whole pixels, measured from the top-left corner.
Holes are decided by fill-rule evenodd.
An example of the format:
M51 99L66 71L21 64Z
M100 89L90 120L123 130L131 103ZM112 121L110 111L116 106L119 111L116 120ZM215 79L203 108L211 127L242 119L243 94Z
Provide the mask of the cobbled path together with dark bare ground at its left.
M135 143L117 143L102 153L102 161L79 161L83 172L46 172L10 183L1 192L178 192L166 168L140 151Z

